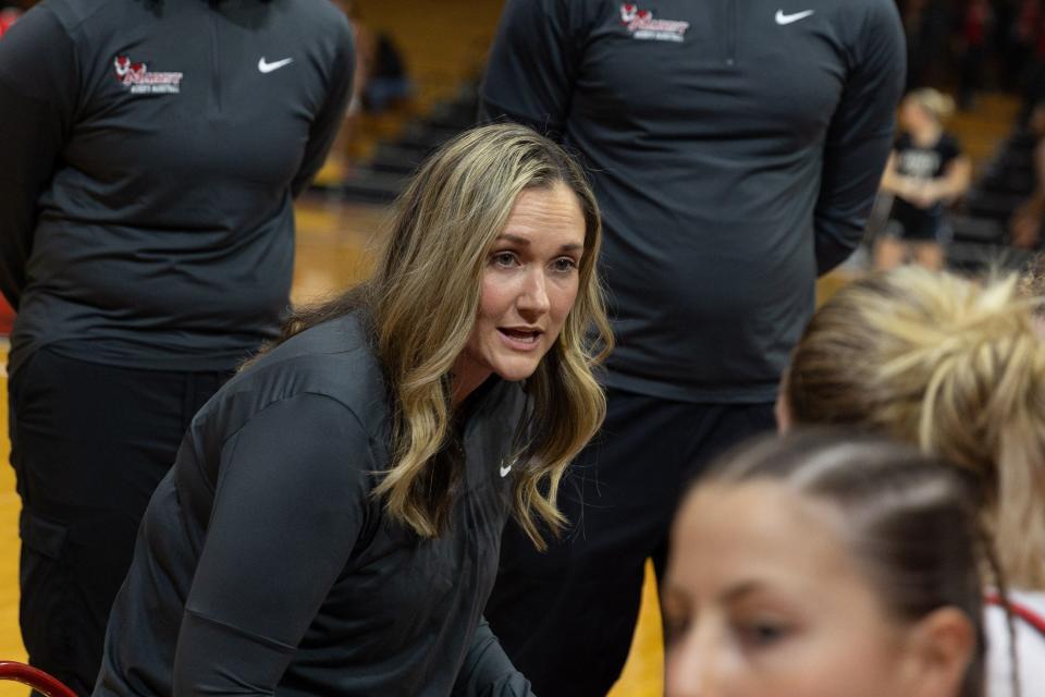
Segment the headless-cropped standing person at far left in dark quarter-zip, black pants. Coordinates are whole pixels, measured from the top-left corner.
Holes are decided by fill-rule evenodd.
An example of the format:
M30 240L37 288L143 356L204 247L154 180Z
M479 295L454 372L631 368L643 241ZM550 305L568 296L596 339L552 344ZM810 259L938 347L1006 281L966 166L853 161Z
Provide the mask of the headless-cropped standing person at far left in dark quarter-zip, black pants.
M22 637L77 694L193 415L279 330L352 73L316 0L44 0L0 40Z

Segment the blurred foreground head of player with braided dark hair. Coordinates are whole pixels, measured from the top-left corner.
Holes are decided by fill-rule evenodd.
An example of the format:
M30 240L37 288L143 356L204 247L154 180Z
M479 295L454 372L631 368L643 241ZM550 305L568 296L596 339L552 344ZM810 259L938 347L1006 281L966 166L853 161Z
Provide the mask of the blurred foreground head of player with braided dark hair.
M1004 576L970 499L881 437L730 453L675 522L667 697L984 697L982 578Z

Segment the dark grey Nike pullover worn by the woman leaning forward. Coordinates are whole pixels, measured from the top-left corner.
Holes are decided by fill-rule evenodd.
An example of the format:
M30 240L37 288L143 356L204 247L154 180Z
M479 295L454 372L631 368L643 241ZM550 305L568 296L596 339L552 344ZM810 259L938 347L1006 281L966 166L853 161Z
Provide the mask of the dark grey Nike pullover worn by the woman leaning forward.
M525 406L495 377L469 398L450 529L425 540L372 496L391 412L357 319L263 356L149 503L95 695L529 695L481 616Z

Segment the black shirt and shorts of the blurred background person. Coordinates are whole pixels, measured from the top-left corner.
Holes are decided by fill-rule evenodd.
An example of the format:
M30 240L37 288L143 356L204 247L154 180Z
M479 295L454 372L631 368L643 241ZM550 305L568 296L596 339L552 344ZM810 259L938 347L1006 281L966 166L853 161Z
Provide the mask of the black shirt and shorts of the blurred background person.
M947 168L961 157L961 145L944 133L932 146L921 147L914 144L910 134L903 133L894 147L896 173L921 182L941 179ZM944 222L944 206L936 201L927 208L921 208L899 196L893 199L889 217L899 223L900 236L909 240L941 240Z

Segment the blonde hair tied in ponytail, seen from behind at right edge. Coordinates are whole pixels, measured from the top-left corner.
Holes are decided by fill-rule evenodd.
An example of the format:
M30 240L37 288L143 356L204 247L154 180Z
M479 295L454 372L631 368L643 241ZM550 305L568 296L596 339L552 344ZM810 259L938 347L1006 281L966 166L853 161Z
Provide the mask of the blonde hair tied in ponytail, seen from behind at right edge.
M841 289L785 381L797 424L855 424L975 475L1016 585L1045 588L1045 344L1018 279L906 267Z

